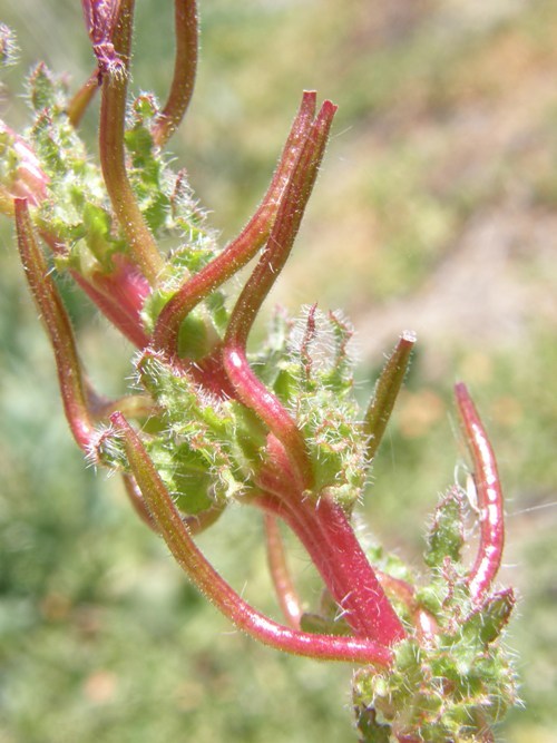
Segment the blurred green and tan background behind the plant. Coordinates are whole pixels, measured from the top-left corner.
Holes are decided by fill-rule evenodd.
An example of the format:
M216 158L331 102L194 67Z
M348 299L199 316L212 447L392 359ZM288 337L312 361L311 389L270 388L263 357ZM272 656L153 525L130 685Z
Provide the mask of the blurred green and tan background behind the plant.
M77 0L3 4L22 52L0 106L17 127L33 61L70 70L74 86L92 61ZM525 706L499 736L555 743L557 4L202 0L201 13L177 162L224 242L257 204L301 90L339 104L268 306L343 307L359 334L362 400L399 332L417 331L363 514L417 567L426 515L463 461L451 387L468 382L507 493L500 583L520 596L508 643ZM139 2L137 20L133 88L164 98L170 2ZM355 740L350 667L283 657L232 632L138 522L119 482L86 469L7 219L0 231L0 742ZM96 383L117 392L130 350L76 291L67 299ZM201 542L276 615L256 514L233 510ZM292 550L316 596L307 559Z

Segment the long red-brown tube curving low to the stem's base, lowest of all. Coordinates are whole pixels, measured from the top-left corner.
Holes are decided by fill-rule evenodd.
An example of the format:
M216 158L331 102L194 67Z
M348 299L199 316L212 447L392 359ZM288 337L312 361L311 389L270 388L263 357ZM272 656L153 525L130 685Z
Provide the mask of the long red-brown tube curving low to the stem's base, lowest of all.
M134 478L172 554L199 590L238 629L286 653L330 661L368 663L380 667L390 665L392 652L379 643L290 629L272 622L241 598L195 545L137 433L119 413L114 413L111 421L124 438Z

